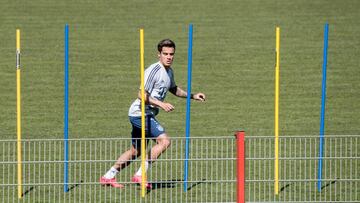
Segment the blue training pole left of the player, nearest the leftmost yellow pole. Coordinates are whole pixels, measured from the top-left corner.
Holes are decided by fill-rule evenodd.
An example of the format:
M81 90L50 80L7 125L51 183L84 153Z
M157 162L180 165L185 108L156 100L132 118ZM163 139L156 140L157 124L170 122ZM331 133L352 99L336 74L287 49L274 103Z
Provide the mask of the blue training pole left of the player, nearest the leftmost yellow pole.
M65 25L64 76L64 192L68 192L69 133L69 25Z

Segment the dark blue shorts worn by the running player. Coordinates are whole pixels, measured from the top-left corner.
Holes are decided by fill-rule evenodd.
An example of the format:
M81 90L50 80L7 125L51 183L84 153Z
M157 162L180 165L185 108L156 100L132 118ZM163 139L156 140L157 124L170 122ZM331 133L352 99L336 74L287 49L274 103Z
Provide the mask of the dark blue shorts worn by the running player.
M141 117L129 116L130 123L132 125L131 131L131 143L135 149L141 148ZM145 137L150 139L156 139L159 135L165 133L165 129L155 119L154 116L145 117ZM146 143L149 140L146 140Z

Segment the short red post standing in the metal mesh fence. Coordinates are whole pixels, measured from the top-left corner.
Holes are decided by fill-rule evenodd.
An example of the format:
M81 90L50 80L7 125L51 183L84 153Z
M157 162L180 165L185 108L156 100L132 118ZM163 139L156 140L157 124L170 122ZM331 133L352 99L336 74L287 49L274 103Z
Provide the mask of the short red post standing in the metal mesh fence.
M245 202L245 132L236 131L236 199Z

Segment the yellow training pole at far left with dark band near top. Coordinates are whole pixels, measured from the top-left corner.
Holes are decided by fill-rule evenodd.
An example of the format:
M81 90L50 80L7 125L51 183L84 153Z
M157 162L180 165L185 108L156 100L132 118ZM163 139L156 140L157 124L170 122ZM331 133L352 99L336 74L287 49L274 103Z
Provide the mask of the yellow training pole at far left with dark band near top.
M22 198L21 163L21 89L20 89L20 30L16 30L16 132L17 132L17 175L18 197Z

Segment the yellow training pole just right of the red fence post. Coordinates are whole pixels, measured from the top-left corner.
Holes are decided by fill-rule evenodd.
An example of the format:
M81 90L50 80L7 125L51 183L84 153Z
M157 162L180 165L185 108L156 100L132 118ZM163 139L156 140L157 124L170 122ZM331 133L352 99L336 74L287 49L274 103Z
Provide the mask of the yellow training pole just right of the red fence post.
M279 80L280 80L280 28L276 27L275 63L275 194L279 194Z

